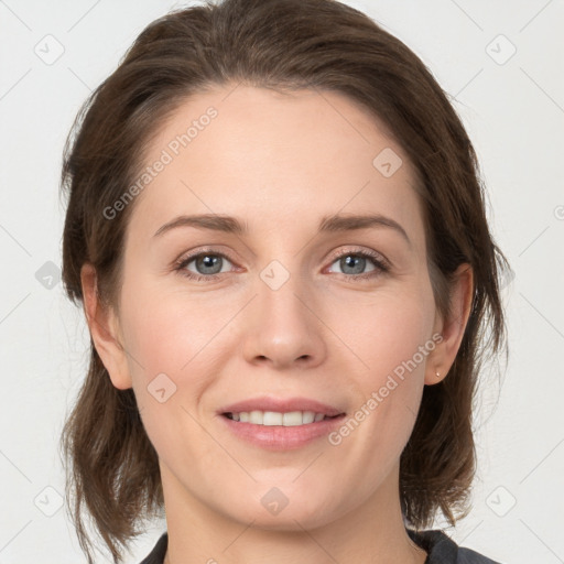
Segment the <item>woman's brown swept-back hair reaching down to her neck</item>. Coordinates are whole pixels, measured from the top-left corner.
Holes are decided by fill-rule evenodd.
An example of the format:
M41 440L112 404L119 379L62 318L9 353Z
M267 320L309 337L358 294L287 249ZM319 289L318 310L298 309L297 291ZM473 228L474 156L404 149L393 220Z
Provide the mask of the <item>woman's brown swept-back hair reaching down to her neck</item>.
M171 12L148 25L80 109L64 150L63 281L84 300L80 269L97 272L102 303L119 304L124 234L135 200L104 209L131 186L148 141L191 95L245 84L344 94L380 119L417 175L435 304L448 313L453 273L474 272L471 310L448 376L425 386L400 459L405 523L441 511L454 525L469 509L476 471L473 411L484 360L506 341L500 285L507 259L490 235L486 192L468 135L423 62L366 14L336 0L225 0ZM113 387L90 338L86 379L62 433L67 510L91 564L86 508L113 562L162 516L158 454L132 389Z

